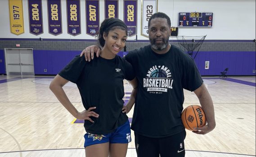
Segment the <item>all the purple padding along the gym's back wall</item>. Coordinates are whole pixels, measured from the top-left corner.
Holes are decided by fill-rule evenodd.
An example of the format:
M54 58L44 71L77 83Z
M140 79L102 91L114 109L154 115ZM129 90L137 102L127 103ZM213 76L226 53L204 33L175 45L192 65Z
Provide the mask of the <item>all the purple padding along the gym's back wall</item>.
M58 74L81 51L33 50L35 74ZM124 52L119 52L123 57ZM193 56L195 52L193 52ZM0 74L6 74L4 50L0 50ZM225 68L227 75L256 75L256 52L198 52L194 59L202 76L218 76ZM205 69L205 61L210 61ZM44 70L47 69L47 72Z

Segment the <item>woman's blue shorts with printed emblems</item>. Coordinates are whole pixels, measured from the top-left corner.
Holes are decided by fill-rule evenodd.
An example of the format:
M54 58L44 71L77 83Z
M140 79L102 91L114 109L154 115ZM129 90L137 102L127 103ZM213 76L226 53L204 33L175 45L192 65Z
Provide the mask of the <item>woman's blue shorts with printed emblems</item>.
M131 142L130 136L130 122L127 120L125 124L117 127L114 132L105 135L95 135L86 133L84 147L93 144L103 144L109 142L110 144L127 144Z

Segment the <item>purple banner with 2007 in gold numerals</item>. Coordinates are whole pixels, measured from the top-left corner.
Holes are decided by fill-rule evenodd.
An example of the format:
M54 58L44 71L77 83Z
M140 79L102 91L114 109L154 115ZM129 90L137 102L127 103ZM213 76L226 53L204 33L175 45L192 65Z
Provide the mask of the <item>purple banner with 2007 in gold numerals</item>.
M86 34L95 36L99 32L99 0L85 0Z

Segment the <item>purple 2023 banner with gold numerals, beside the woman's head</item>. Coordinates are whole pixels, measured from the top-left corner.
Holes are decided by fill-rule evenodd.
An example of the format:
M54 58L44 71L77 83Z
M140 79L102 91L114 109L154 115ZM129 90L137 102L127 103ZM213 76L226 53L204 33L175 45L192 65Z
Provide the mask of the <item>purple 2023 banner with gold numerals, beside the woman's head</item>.
M124 22L128 28L128 36L137 31L137 0L124 0Z

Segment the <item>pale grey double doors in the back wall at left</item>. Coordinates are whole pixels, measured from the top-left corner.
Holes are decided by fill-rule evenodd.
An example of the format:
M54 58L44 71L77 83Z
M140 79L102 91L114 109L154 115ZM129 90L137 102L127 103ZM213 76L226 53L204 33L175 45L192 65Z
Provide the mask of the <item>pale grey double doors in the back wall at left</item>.
M32 48L4 48L7 75L35 75Z

